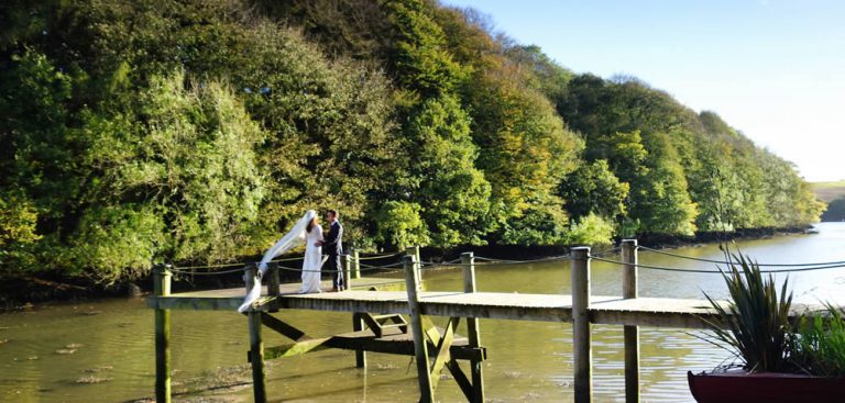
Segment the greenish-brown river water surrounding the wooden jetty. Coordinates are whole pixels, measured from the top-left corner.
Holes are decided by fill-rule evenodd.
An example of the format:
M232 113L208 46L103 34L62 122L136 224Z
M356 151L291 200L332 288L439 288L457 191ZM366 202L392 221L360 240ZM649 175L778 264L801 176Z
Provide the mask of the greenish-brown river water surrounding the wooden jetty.
M845 260L845 223L822 223L815 235L747 240L737 247L760 262ZM716 245L672 253L721 259ZM611 257L618 259L618 257ZM715 265L640 251L644 265L713 269ZM398 277L397 275L393 275ZM778 275L779 279L784 276ZM569 293L569 262L496 266L476 270L480 291ZM428 290L460 290L457 269L428 271ZM593 262L593 293L621 294L619 268ZM724 295L718 276L640 269L641 296L702 298ZM795 299L845 303L845 269L790 275ZM350 332L349 314L283 311L290 324L312 335ZM175 396L186 402L250 402L245 368L246 320L234 312L173 311L174 390L217 388ZM435 321L441 323L438 318ZM571 401L571 326L560 323L481 321L485 391L493 402ZM459 333L465 334L463 326ZM286 344L265 331L265 346ZM641 391L646 402L687 402L688 370L709 370L728 354L683 329L640 328ZM623 333L618 326L594 326L593 368L596 402L623 402ZM240 366L239 369L233 367ZM153 395L153 313L143 299L88 303L52 303L28 312L0 315L0 401L124 402ZM351 351L328 350L268 362L271 401L411 402L418 399L416 366L409 357L369 354L369 368L354 368ZM195 380L202 379L196 383ZM462 401L451 379L437 390L442 402Z

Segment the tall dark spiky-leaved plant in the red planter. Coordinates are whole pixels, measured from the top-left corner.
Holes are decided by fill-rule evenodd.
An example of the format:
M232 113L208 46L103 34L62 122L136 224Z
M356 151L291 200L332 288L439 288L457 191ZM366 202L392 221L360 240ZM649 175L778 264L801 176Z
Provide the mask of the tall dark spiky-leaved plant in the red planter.
M722 272L731 295L727 304L712 299L715 318L705 320L717 346L733 352L751 372L787 372L792 343L789 310L792 292L788 280L778 292L771 275L742 253L728 255L728 270Z

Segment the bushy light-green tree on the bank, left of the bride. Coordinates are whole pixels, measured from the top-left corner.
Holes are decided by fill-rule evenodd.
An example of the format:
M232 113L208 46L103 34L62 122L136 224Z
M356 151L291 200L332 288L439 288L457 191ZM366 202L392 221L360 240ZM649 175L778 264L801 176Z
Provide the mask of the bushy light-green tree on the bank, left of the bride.
M227 85L180 71L153 77L139 103L131 117L84 114L92 144L83 163L98 178L73 237L79 266L113 280L154 259L242 253L265 194L255 156L266 133Z

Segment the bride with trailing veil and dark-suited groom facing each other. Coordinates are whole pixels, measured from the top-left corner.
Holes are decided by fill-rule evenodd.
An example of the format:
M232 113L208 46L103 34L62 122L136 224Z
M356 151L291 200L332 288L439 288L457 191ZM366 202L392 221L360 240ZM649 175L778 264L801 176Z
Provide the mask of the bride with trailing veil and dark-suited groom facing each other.
M305 257L303 259L303 288L301 293L321 292L320 273L322 268L322 251L326 250L328 271L331 272L331 291L342 291L347 287L343 270L340 266L340 255L343 253L343 226L338 222L338 212L329 210L326 214L329 222L329 233L322 235L322 226L317 222L317 212L308 210L294 227L288 231L273 247L267 249L259 262L259 271L253 286L246 293L238 312L248 311L261 296L261 279L267 272L267 264L278 255L305 243Z

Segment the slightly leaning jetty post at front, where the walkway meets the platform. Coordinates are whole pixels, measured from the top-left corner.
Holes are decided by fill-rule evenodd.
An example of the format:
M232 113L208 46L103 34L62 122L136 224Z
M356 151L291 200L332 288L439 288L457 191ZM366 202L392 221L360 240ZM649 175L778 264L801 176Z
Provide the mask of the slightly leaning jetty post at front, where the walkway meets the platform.
M408 289L410 332L414 336L414 355L417 361L417 378L419 378L419 401L421 403L431 403L435 399L435 391L431 387L431 372L429 372L428 343L422 329L422 315L419 311L418 271L416 256L405 256L405 287Z

